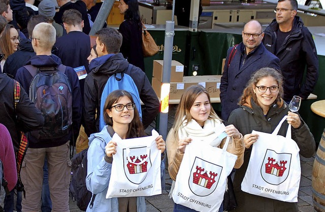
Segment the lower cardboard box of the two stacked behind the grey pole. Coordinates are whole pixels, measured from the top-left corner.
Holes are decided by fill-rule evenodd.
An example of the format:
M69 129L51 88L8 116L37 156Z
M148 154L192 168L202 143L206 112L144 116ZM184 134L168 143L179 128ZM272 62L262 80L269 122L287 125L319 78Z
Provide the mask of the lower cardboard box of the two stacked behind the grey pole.
M157 94L158 98L160 98L161 82L154 77L152 78L152 88ZM182 94L184 93L184 90L185 90L185 83L183 82L171 83L169 99L180 99Z

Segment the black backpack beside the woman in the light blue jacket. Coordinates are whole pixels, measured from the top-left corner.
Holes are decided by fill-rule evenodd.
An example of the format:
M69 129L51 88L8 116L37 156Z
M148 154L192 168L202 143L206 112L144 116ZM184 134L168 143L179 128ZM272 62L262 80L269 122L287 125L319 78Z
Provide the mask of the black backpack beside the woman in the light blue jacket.
M86 176L87 176L87 152L88 148L76 154L72 159L71 164L71 182L70 182L70 193L73 196L73 200L77 201L77 206L81 210L86 210L91 200L90 208L93 206L95 200L95 194L92 195L86 187ZM92 198L91 198L92 196Z

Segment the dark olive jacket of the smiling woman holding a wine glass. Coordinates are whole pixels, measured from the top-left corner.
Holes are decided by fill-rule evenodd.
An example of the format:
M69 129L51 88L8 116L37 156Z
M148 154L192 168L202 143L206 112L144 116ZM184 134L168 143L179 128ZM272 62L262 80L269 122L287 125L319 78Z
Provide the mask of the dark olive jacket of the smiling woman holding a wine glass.
M250 97L249 97L250 99ZM288 114L289 108L282 100L281 107L278 104L271 105L268 113L264 116L263 110L253 100L247 101L239 109L236 109L229 116L227 125L233 124L243 135L249 134L252 130L272 133L281 119ZM301 126L297 129L291 127L291 137L297 143L300 154L303 157L312 157L315 152L315 140L307 124L301 120ZM285 136L288 123L284 122L279 130L279 135ZM234 178L234 190L238 207L236 211L298 211L297 202L283 202L262 196L248 194L241 190L241 183L247 170L252 146L245 149L244 163L236 170ZM253 203L253 204L252 204Z

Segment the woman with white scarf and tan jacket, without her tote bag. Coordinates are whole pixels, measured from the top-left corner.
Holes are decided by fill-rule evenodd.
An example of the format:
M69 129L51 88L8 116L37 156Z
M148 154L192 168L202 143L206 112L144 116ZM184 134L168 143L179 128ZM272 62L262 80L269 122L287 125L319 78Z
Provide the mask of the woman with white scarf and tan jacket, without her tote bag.
M218 128L221 127L224 127L222 120L211 106L208 91L201 85L187 88L180 99L174 125L166 139L168 171L173 181L176 181L186 145L192 140L209 142L211 146L218 148L223 147L226 138L220 140L217 134ZM245 150L243 135L234 125L226 126L224 129L225 133L231 137L227 151L238 156L234 168L239 168L243 163ZM173 186L171 193L172 190ZM222 208L220 209L223 211ZM174 211L195 210L175 203Z

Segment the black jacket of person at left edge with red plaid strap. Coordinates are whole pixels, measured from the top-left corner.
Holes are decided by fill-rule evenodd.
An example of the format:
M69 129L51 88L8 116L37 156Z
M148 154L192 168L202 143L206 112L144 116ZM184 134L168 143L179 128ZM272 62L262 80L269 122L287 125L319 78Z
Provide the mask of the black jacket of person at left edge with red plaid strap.
M15 109L14 88L14 80L5 74L0 74L0 123L10 132L14 150L17 152L20 131L41 129L44 125L44 117L30 101L22 86L20 86L20 99Z

